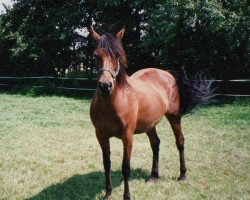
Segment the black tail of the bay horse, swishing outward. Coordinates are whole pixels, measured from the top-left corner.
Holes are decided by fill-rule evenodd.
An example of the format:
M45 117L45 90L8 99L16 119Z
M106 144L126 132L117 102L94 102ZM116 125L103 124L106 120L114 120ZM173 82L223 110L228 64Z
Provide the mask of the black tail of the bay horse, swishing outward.
M184 71L178 73L176 82L180 93L181 114L186 114L198 105L206 105L215 96L212 89L213 80L206 80L197 74L195 80L189 80Z

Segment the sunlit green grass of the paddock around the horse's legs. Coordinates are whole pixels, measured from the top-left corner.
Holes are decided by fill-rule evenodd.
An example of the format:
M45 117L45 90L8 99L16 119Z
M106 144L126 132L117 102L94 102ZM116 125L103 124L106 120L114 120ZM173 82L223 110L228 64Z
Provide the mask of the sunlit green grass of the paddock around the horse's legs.
M90 100L0 94L0 199L102 199L101 150ZM213 105L183 117L187 180L168 122L158 125L160 179L148 185L152 153L136 135L131 194L144 199L250 199L250 99ZM111 139L113 194L122 199L122 143Z

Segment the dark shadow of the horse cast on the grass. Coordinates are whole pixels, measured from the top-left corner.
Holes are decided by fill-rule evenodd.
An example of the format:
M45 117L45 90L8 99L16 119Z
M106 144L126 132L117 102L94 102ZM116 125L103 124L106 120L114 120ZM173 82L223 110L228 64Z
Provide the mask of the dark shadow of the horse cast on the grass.
M135 169L131 170L131 180L146 179L149 173ZM119 187L123 184L121 171L112 172L113 188ZM37 195L29 198L28 200L41 200L41 199L95 199L105 190L104 185L104 172L91 172L84 175L74 175L62 183L57 183L42 190ZM102 196L100 196L103 198Z

